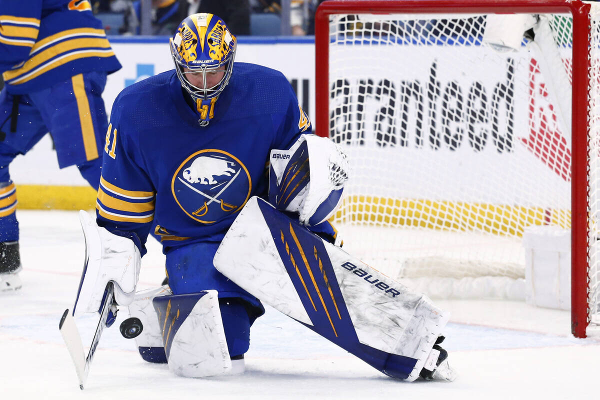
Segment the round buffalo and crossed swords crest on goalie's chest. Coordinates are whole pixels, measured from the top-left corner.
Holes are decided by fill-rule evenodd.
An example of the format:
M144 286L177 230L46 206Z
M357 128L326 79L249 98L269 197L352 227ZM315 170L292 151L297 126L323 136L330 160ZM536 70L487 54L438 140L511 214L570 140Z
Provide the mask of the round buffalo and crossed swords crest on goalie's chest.
M250 197L248 170L233 155L198 151L173 174L171 189L182 210L198 222L211 224L237 212Z

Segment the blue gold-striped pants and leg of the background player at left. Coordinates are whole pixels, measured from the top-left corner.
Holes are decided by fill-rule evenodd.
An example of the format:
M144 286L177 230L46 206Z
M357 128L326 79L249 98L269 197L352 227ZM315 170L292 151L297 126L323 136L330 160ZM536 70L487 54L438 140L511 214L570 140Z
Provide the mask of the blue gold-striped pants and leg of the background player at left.
M10 163L50 131L59 167L76 164L97 190L107 128L104 83L106 73L87 73L31 94L11 95L6 88L0 92L0 115L7 116L0 126L0 290L20 287L19 223Z

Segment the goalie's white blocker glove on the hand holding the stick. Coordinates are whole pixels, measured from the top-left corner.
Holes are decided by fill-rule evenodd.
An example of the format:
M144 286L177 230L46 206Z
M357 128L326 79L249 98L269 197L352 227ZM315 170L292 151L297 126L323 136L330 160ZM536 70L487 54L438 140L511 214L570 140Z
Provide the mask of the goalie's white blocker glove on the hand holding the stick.
M79 221L85 237L85 263L73 315L97 312L109 281L115 283L116 302L130 304L142 263L139 249L133 240L99 227L84 210L79 212Z

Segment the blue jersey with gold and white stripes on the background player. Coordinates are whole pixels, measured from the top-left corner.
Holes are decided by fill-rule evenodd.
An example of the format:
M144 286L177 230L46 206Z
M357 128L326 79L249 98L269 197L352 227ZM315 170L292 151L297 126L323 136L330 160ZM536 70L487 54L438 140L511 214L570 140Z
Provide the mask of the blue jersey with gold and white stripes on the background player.
M0 72L12 94L119 68L90 2L0 0Z

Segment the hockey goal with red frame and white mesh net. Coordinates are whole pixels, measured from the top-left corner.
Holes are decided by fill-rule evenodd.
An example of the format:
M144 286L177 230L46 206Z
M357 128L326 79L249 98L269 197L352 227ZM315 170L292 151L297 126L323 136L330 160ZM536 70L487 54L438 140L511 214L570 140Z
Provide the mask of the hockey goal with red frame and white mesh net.
M524 231L569 230L578 321L600 324L600 5L583 4L319 8L316 132L350 158L347 251L433 297L522 299Z

